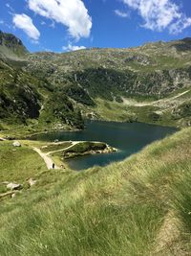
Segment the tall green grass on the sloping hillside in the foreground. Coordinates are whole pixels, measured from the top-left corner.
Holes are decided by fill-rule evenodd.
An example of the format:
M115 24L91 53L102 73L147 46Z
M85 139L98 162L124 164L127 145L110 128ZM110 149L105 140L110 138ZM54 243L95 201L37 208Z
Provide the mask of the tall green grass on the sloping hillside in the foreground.
M37 175L1 203L0 255L190 255L190 141L185 128L105 168Z

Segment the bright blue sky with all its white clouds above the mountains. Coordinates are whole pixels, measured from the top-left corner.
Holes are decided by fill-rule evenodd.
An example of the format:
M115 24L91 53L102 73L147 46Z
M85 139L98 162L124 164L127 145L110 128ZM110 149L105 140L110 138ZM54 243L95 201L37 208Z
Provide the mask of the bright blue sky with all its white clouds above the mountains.
M191 1L1 0L0 30L32 52L134 47L191 36Z

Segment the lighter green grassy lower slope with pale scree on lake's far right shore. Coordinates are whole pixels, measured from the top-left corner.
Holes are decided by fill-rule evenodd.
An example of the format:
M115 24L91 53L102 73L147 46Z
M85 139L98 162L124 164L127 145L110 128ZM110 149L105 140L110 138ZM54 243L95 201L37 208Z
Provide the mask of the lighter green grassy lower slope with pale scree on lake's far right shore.
M191 125L191 90L180 90L160 100L137 96L122 98L122 103L96 99L96 108L88 110L88 116L117 122L143 122L170 127Z

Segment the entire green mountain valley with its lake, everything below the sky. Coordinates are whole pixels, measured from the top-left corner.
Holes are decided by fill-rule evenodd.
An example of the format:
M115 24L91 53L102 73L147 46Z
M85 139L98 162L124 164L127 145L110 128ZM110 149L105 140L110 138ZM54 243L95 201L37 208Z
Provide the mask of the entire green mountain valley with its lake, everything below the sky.
M58 54L0 32L0 255L190 255L190 126L189 37Z

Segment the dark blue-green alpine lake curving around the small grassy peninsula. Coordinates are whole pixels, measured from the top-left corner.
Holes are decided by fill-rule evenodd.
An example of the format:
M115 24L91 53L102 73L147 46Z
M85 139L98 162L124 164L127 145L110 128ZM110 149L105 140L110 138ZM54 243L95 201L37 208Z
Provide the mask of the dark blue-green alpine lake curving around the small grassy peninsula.
M67 161L69 167L80 171L94 166L106 166L121 161L140 151L148 144L177 131L177 128L161 127L143 123L116 123L88 121L79 131L53 131L37 134L32 140L40 141L100 141L117 148L116 152L74 157Z

